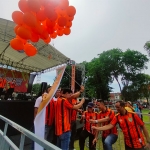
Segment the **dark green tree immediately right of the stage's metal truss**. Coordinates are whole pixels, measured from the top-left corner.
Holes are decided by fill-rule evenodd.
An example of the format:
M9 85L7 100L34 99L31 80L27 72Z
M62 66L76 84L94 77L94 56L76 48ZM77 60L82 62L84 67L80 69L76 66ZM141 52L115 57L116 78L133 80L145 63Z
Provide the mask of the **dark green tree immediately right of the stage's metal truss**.
M86 95L88 97L108 99L110 92L109 78L105 76L103 70L99 58L94 58L87 63Z

